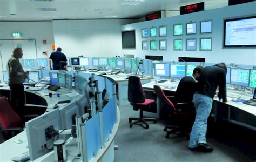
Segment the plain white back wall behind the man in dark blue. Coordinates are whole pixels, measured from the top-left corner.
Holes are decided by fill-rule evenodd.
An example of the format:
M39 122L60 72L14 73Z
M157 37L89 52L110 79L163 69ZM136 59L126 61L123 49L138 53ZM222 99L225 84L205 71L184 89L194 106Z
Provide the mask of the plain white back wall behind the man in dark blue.
M121 25L134 22L138 20L56 20L53 21L55 45L67 57L120 56Z

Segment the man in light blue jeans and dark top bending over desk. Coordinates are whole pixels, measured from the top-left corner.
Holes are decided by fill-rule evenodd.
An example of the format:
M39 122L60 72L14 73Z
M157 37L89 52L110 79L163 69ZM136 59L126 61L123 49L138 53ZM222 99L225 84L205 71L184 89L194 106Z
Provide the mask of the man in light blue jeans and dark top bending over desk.
M190 150L211 152L213 148L206 144L207 118L212 110L212 99L219 87L219 100L227 102L225 63L207 66L201 71L198 79L198 91L194 94L193 102L196 107L196 119L190 133Z

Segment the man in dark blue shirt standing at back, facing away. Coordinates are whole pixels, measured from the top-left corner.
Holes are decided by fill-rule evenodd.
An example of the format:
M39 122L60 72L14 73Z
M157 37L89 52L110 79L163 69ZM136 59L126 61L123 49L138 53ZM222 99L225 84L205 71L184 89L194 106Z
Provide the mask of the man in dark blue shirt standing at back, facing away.
M56 52L52 52L49 58L49 65L50 69L51 67L51 61L53 65L53 70L59 70L60 69L60 62L67 62L66 56L64 53L62 53L62 48L58 47Z

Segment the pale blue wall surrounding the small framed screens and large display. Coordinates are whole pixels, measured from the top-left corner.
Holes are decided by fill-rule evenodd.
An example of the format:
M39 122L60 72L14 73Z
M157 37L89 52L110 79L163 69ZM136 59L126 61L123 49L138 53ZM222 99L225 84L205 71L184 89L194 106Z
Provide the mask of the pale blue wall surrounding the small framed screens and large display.
M228 17L244 16L256 14L256 2L250 2L224 8L196 12L174 17L157 19L154 21L139 22L122 26L124 30L136 30L136 50L122 50L122 54L134 54L136 57L145 58L145 55L164 56L164 60L178 60L179 56L184 57L204 57L206 62L226 62L236 64L256 65L256 50L254 49L223 49L223 19ZM212 19L212 33L200 34L200 21ZM183 23L183 33L188 22L197 22L197 34L183 36L173 36L173 25ZM152 26L167 26L167 37L142 38L141 29ZM158 29L157 29L158 32ZM212 51L199 51L199 40L203 37L212 37ZM173 50L173 39L183 39L183 51ZM186 51L185 39L197 38L197 51ZM167 39L167 51L142 50L142 40ZM149 42L150 43L150 42ZM158 42L159 44L159 42ZM159 49L159 46L158 46Z

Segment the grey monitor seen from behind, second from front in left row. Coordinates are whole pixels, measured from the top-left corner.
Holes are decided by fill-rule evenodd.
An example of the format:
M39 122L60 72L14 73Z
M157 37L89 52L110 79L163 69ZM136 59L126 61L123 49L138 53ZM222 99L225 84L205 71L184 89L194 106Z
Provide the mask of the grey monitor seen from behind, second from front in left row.
M73 101L59 109L61 128L72 129L76 125L76 116L79 115L79 107L76 101Z

